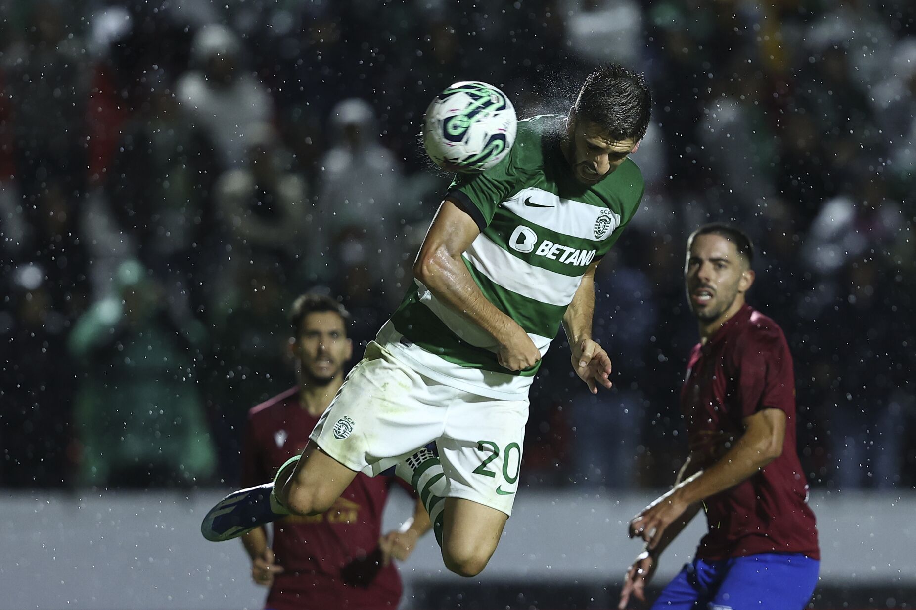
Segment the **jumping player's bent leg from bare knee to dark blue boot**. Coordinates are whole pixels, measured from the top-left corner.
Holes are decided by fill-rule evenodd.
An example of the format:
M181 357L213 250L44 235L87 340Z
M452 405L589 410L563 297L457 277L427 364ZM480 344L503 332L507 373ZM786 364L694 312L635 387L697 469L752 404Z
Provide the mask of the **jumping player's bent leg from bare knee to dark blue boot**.
M280 467L271 483L235 491L211 508L201 523L207 540L232 540L290 513L320 514L331 508L356 473L309 443Z

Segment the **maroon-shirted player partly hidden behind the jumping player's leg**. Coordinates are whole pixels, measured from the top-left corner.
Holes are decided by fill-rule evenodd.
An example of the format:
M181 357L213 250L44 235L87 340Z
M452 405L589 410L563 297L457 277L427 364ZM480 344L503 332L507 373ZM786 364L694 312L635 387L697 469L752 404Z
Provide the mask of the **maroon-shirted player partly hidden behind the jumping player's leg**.
M353 347L348 314L333 299L304 294L292 307L290 350L300 385L249 413L243 451L246 486L270 478L299 455L309 433L343 383ZM272 545L259 527L242 537L252 577L270 588L267 608L311 610L397 608L401 583L392 558L406 559L429 529L418 504L401 530L382 536L382 511L396 477L357 475L333 507L311 517L288 516L273 524Z

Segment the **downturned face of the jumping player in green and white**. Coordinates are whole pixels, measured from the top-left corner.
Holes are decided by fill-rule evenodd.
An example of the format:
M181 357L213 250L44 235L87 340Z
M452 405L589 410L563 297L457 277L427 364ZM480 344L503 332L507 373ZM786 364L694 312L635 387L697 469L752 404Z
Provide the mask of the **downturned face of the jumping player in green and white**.
M587 185L598 184L614 173L639 144L633 138L615 140L602 127L584 119L575 119L570 131L573 176Z

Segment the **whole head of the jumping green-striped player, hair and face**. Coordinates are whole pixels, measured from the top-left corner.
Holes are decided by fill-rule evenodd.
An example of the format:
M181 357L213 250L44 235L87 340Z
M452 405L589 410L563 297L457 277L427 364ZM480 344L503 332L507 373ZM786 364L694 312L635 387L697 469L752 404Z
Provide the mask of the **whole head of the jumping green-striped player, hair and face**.
M609 64L588 75L566 122L567 160L576 180L597 184L636 151L649 128L651 103L641 74Z

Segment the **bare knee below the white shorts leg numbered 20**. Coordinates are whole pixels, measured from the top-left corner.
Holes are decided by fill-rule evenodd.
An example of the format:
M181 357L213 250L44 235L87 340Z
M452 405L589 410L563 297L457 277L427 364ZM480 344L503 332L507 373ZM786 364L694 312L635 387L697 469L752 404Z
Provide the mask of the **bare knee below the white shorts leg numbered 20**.
M442 561L459 576L476 576L490 561L508 515L464 498L445 498Z

